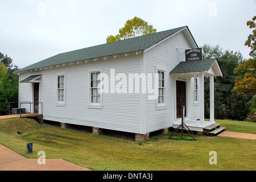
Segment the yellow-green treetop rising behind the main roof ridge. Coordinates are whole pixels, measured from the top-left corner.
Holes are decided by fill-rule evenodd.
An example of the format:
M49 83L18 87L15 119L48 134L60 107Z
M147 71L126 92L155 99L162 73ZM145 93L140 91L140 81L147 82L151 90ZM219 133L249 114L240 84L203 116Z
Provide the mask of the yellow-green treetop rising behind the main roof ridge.
M157 29L153 28L153 25L145 22L145 20L134 16L133 19L126 21L125 26L119 29L119 34L109 35L107 37L107 43L117 42L119 40L125 40L134 38L136 36L153 34L157 32Z

